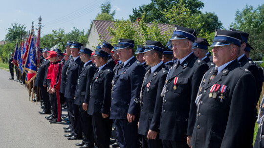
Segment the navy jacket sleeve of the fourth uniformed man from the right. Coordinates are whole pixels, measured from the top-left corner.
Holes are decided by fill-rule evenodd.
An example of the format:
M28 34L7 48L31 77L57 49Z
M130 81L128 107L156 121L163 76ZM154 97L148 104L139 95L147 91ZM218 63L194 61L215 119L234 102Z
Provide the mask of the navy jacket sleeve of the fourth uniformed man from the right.
M136 68L132 71L131 74L131 101L128 109L128 113L132 115L139 115L140 110L140 102L136 102L135 100L139 100L139 94L143 82L144 75L146 70L143 65L137 65Z

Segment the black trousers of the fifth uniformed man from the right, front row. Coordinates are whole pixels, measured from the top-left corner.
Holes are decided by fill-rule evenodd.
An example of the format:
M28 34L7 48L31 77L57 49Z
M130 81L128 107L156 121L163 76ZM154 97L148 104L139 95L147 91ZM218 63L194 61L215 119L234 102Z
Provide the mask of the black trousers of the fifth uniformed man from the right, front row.
M109 148L112 131L112 120L102 116L92 116L92 127L95 143L98 148Z

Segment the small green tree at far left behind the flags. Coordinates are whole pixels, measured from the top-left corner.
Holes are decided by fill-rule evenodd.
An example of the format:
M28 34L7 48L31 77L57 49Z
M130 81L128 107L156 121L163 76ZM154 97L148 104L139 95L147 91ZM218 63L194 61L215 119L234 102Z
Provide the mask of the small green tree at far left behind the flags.
M23 35L26 34L25 28L26 26L21 25L18 23L15 23L14 25L11 24L12 27L9 27L7 29L8 33L5 35L5 41L9 41L9 42L16 42L20 39L22 39Z

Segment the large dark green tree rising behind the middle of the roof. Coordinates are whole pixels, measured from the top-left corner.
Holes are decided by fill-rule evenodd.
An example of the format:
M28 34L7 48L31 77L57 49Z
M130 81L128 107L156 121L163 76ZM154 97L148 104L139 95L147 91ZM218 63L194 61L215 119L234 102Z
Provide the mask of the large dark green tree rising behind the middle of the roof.
M131 21L136 21L136 18L145 18L145 22L159 22L168 23L169 20L164 17L162 11L170 10L177 5L181 0L152 0L147 5L133 8L133 14L129 15ZM204 3L199 0L182 0L186 8L190 10L191 14L200 13L200 9ZM143 16L144 15L144 16Z

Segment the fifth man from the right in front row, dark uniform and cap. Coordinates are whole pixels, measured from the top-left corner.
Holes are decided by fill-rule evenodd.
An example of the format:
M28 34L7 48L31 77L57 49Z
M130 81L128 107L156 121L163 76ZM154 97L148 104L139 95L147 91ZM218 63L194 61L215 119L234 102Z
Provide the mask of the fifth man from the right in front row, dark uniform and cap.
M95 143L98 148L109 148L112 120L109 118L111 89L114 73L107 63L109 54L96 49L95 64L98 68L91 81L88 114L92 116Z

